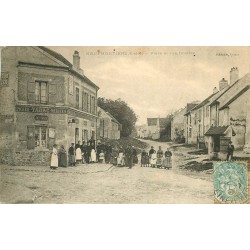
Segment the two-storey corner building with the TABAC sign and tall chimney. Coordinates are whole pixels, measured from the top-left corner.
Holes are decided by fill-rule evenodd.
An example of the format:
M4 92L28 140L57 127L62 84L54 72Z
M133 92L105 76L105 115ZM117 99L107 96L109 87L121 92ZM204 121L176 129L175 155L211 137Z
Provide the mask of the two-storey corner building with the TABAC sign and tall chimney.
M61 54L42 46L2 49L0 158L48 165L54 143L96 139L98 86Z

